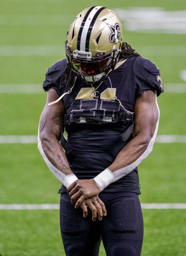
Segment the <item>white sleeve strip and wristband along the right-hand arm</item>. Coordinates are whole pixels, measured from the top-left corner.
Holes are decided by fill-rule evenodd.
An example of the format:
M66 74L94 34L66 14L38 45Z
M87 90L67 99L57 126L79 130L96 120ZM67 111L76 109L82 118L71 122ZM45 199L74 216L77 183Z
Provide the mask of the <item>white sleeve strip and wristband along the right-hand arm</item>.
M98 185L98 187L100 188L101 191L105 187L107 187L109 184L115 182L116 180L122 178L123 176L127 175L132 170L134 170L151 153L154 142L155 142L155 138L156 138L156 135L157 135L158 124L159 124L159 119L160 119L160 110L159 110L159 107L158 107L158 104L157 104L157 96L156 96L156 106L157 106L157 109L158 109L158 120L157 120L157 123L156 123L156 129L155 129L154 135L153 135L152 139L150 140L147 149L135 162L129 164L128 166L125 166L121 169L118 169L115 172L111 172L111 170L109 170L109 168L107 168L103 172L98 174L94 178L94 180L95 180L96 184Z

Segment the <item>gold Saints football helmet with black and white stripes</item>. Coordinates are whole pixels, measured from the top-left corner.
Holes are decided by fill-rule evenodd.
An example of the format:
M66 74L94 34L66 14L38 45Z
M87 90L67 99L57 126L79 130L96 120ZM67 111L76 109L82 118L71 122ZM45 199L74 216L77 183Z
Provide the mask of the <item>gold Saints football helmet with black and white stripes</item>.
M86 83L103 80L118 61L122 24L112 10L93 6L79 13L67 31L67 62Z

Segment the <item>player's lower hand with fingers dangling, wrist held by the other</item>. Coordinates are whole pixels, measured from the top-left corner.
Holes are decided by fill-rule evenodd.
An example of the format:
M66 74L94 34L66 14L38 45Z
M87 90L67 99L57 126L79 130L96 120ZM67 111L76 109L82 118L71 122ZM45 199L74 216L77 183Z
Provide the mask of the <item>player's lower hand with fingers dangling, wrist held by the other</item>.
M83 217L86 218L88 215L88 208L92 211L92 220L95 221L97 218L98 213L98 219L102 220L103 216L107 215L107 211L105 208L104 203L101 201L101 199L98 196L94 196L88 199L85 199L80 205L83 209Z

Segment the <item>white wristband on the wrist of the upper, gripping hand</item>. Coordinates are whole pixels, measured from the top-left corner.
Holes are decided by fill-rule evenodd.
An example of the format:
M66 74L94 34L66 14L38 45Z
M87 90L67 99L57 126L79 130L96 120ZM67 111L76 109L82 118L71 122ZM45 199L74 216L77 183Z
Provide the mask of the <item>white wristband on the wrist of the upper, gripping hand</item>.
M111 172L111 170L109 170L109 168L98 174L94 180L101 191L109 184L116 181L114 174Z

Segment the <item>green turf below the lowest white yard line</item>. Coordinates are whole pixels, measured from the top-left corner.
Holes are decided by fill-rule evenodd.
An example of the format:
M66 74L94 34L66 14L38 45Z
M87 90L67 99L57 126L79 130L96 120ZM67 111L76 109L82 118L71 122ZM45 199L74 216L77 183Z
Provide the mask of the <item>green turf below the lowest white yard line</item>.
M185 210L143 210L143 216L141 256L185 256ZM0 226L3 256L65 256L58 210L3 210ZM102 244L99 255L105 256Z

